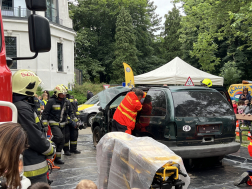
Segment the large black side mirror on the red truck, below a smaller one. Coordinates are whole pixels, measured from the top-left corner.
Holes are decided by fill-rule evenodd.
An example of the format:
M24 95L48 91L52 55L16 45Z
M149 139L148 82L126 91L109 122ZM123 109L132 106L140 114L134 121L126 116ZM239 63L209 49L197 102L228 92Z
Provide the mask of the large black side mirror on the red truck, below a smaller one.
M31 52L49 52L51 50L51 31L49 21L39 15L28 18L29 41Z

